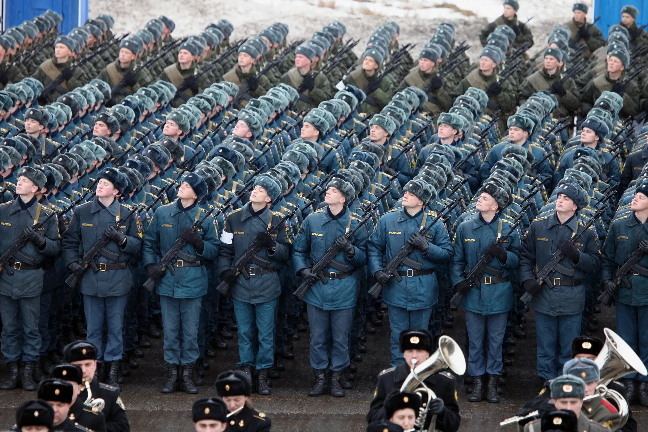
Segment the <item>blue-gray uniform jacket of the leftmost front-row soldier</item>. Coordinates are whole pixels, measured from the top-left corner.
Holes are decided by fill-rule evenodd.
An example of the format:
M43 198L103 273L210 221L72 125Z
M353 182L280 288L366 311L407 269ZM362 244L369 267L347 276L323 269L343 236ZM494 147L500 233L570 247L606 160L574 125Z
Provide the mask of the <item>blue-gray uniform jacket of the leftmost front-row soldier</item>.
M21 199L0 204L0 253L5 253L14 241L23 235L23 230L40 223L52 210L36 202L34 197L26 209L21 206ZM24 205L24 203L23 203ZM38 249L32 242L27 242L20 248L14 259L7 264L14 269L9 275L6 269L0 273L0 294L21 299L36 297L43 291L43 269L41 262L46 256L56 256L61 250L61 238L58 233L56 216L52 216L38 234L45 237L45 246Z

